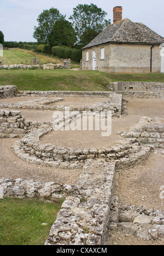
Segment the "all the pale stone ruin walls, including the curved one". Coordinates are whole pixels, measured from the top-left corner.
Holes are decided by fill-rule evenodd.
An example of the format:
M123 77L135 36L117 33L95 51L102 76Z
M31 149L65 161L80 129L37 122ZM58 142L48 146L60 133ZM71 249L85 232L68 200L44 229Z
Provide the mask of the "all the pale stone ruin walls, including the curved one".
M56 100L60 100L62 104L63 95L82 97L96 95L102 100L103 97L108 96L107 101L100 101L88 107L99 111L112 110L114 117L121 118L125 106L123 107L122 95L117 94L118 90L127 90L127 92L132 90L136 94L140 93L140 90L144 92L153 90L155 95L156 89L160 94L163 84L118 82L110 84L109 89L115 92L24 91L19 93L28 95L27 101L17 103L17 106L27 108L30 104L34 108L38 106L37 104L40 106L51 104ZM32 100L30 95L39 97ZM125 235L130 232L143 240L158 240L163 237L163 212L145 210L143 207L122 206L117 199L113 200L113 188L118 183L120 169L136 166L153 152L163 153L163 119L143 117L129 131L119 132L124 141L110 148L61 148L40 141L43 135L52 131L51 120L44 123L26 121L20 111L11 110L10 103L2 104L8 104L5 107L9 110L0 110L0 138L18 138L13 144L13 151L20 159L37 165L71 168L74 172L80 169L75 185L24 181L20 178L0 179L0 190L4 197L37 198L55 202L65 199L51 226L45 245L107 245L108 232L110 234L115 230L125 232ZM13 103L13 107L16 107L16 104ZM63 107L59 107L62 110ZM79 108L79 112L86 108L86 106L72 107L76 107L77 110ZM145 219L147 223L143 224Z

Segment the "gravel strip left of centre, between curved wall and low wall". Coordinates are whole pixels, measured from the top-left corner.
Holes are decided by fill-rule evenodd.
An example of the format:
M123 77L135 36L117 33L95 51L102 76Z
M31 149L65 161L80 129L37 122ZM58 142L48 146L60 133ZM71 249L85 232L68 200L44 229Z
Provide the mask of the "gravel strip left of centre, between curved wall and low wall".
M65 170L34 165L18 158L13 151L17 139L0 139L0 178L33 179L40 182L56 182L75 185L82 170Z

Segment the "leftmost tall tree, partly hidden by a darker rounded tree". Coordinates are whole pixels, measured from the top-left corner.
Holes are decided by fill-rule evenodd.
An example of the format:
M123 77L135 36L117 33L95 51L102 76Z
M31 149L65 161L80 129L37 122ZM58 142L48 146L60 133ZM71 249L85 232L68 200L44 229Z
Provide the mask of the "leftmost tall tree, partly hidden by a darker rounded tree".
M49 44L55 22L61 18L65 19L65 16L60 14L60 11L55 8L43 10L37 19L39 26L34 26L33 38L37 39L38 43Z

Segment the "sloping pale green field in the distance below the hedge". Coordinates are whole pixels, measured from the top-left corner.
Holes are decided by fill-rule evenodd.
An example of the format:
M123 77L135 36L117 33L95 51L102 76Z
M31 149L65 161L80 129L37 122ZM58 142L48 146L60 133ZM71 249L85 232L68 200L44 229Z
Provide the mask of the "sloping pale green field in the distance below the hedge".
M60 63L61 60L57 57L50 57L48 55L37 54L33 51L23 50L23 49L9 49L3 51L3 64L4 65L14 65L14 64L30 64L30 58L39 58L40 64L45 63Z

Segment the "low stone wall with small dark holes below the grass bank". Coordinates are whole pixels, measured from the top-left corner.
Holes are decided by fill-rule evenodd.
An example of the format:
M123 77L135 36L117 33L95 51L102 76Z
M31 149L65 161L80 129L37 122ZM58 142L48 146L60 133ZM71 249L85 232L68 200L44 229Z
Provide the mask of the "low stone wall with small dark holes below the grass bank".
M107 88L121 93L124 97L164 98L164 83L115 82L110 83Z

